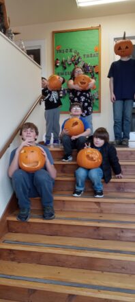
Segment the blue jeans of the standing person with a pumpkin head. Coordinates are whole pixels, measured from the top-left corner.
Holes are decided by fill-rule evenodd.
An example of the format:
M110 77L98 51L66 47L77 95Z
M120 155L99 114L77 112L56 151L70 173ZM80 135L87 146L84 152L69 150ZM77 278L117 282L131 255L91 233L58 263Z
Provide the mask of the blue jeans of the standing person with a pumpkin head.
M115 139L130 139L132 108L133 100L120 100L113 103Z

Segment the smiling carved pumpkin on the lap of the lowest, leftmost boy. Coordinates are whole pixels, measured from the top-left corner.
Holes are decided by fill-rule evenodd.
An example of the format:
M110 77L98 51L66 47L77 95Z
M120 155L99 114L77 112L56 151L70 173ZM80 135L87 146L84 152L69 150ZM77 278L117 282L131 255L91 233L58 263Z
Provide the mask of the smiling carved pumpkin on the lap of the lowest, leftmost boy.
M25 146L20 150L19 167L26 172L35 172L42 169L45 161L42 150L37 146Z

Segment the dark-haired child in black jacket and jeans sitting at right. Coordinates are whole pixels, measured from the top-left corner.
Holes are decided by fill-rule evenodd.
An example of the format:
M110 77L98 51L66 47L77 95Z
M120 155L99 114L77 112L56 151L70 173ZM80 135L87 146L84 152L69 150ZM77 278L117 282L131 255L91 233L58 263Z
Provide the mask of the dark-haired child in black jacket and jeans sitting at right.
M78 167L76 170L76 189L73 196L79 197L85 189L86 179L90 179L93 189L94 197L103 197L103 184L102 178L105 183L108 183L112 178L112 172L115 172L116 178L123 178L121 174L121 165L117 157L117 152L114 146L109 141L109 135L105 128L97 128L93 133L93 137L89 139L89 147L99 150L102 154L102 165L94 169L85 169L84 167ZM85 146L88 148L88 146Z

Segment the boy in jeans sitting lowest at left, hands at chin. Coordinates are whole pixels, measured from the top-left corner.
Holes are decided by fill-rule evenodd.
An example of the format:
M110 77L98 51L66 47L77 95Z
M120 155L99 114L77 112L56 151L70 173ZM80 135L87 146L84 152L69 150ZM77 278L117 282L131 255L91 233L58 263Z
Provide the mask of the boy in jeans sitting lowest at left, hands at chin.
M56 177L56 170L53 165L53 159L48 148L36 144L38 136L37 126L33 123L25 123L20 128L20 136L23 142L20 146L14 149L10 155L10 167L8 175L12 178L12 185L18 198L18 206L20 212L17 219L27 221L30 216L30 200L31 197L40 196L42 206L44 209L43 218L50 220L55 218L55 211L53 209L52 189ZM36 172L25 172L21 170L18 165L20 150L24 146L39 146L42 148L42 154L46 158L45 165L42 169Z

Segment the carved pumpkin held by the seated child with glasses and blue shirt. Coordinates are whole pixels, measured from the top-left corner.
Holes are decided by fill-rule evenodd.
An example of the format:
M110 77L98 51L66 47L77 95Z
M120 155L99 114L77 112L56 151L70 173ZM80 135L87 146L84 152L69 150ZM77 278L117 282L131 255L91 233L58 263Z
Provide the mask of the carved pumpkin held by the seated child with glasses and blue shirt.
M64 129L68 130L71 137L72 135L80 135L85 131L85 127L78 117L67 119L67 121L65 121Z

